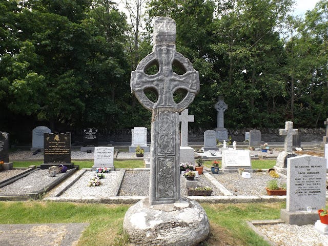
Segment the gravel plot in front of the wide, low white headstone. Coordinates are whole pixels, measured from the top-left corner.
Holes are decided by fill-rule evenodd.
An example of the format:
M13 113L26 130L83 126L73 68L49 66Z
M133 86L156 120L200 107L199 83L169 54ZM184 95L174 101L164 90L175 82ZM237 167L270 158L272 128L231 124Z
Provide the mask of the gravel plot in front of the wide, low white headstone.
M238 173L222 172L212 176L236 196L268 195L265 187L269 180L274 179L267 172L251 173L251 178L243 178ZM278 183L283 182L286 182L286 178L280 175Z

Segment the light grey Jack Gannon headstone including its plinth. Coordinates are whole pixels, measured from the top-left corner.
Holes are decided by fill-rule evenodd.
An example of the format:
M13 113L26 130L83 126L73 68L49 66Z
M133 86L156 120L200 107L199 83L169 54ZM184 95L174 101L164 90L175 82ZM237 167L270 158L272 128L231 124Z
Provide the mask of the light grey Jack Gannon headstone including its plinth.
M325 158L302 155L288 159L286 209L281 210L281 219L298 226L314 223L317 210L325 207L325 194Z

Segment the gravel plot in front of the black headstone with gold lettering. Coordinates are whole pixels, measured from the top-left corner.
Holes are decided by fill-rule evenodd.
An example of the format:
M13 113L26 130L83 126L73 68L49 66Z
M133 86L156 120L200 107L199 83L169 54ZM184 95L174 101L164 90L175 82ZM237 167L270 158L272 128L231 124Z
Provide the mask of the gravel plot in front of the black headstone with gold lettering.
M74 172L74 170L67 170L67 172ZM64 173L58 173L55 177L50 177L48 169L36 170L10 185L0 188L0 195L29 195L31 192L44 189L63 175Z

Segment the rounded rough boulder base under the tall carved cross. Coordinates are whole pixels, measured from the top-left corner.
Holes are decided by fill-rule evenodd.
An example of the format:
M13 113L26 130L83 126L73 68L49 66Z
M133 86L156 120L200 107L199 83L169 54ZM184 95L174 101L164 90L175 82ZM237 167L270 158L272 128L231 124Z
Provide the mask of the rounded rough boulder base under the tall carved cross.
M129 208L123 228L135 245L196 246L210 233L206 212L195 201L150 206L145 198Z

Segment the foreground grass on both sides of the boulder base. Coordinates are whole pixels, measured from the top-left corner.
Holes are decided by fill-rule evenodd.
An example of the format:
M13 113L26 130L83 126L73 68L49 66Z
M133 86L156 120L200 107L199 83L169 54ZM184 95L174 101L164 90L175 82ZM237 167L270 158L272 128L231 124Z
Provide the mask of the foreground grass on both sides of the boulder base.
M202 245L269 245L246 221L277 219L283 202L201 204L210 220L210 236ZM130 205L50 201L2 201L0 221L15 223L90 223L78 246L129 245L122 222Z

